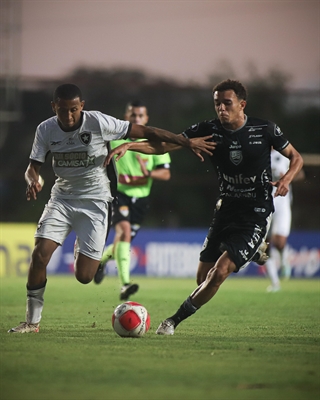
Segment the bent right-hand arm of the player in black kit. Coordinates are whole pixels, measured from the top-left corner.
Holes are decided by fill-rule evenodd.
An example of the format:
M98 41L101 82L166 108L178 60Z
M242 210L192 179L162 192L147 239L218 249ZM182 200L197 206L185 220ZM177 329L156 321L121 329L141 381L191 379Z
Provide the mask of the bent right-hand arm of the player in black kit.
M300 153L291 144L280 153L289 158L290 165L288 171L278 181L271 182L271 185L277 188L274 197L285 196L288 193L290 183L299 174L303 166L303 159Z

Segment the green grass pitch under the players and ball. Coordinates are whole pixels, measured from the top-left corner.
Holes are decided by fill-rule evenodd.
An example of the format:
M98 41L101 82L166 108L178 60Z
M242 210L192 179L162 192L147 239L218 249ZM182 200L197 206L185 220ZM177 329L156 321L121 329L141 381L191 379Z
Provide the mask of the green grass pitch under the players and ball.
M49 276L40 333L8 334L24 320L25 278L2 278L0 399L319 399L319 280L266 293L265 279L229 278L169 337L155 330L194 280L135 280L132 300L151 316L140 339L112 329L116 277L84 286Z

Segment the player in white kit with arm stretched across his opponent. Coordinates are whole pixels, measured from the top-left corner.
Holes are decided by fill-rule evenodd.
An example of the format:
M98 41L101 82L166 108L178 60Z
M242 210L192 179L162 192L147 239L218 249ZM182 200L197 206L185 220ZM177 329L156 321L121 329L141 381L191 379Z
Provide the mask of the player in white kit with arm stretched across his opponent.
M49 152L52 152L57 179L35 233L28 272L26 321L9 332L39 331L46 268L53 252L71 230L77 236L75 276L83 284L93 279L105 245L112 191L116 189L113 165L104 167L109 141L128 137L168 141L191 148L200 159L203 159L201 151L210 153L214 147L205 140L196 143L181 135L131 124L99 111L84 111L81 91L73 84L57 87L51 106L56 115L37 127L25 173L27 200L36 200L42 189L39 173Z

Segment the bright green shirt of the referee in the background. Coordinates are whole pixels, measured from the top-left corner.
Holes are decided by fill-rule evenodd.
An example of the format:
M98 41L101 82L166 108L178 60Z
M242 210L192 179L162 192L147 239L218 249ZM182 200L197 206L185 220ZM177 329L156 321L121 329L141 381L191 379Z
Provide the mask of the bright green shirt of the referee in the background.
M131 140L113 140L110 142L110 145L111 148L114 149L127 141ZM161 155L142 154L129 150L122 158L120 158L119 161L116 162L118 171L118 191L130 197L147 197L150 195L153 179L144 177L137 160L137 155L140 155L148 171L156 169L159 165L170 168L171 159L169 153ZM141 178L143 179L143 182L141 182ZM135 183L137 179L140 180L140 183Z

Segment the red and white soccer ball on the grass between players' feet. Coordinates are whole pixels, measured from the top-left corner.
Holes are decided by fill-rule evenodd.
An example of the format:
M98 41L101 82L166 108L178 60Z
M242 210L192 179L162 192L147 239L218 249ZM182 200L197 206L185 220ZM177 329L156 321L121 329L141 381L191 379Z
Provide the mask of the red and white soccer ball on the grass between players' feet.
M150 315L143 305L127 301L114 310L112 326L121 337L141 337L150 328Z

